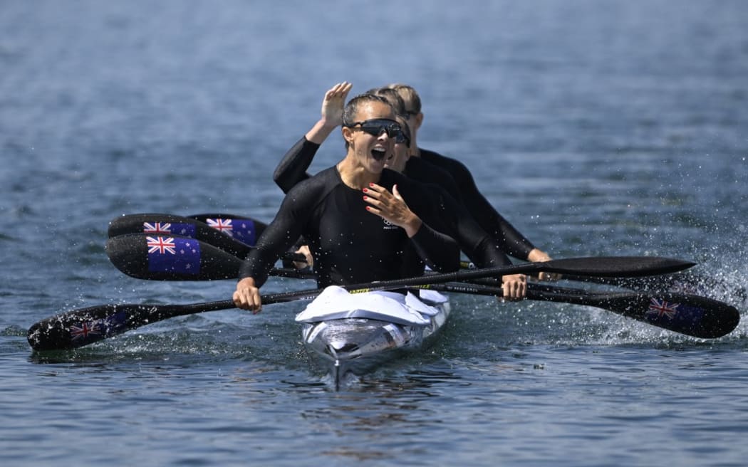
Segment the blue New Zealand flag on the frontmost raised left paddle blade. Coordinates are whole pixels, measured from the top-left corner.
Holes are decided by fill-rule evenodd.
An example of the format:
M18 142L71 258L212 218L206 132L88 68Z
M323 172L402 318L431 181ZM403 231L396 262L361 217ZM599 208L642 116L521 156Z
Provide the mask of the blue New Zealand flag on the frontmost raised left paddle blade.
M151 272L200 273L200 242L192 238L146 237Z

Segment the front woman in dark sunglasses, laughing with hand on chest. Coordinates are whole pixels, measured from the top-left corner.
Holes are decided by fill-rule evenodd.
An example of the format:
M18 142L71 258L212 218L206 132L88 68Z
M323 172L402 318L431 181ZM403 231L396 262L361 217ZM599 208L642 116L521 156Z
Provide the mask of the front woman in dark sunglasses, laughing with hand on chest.
M302 236L320 288L418 276L424 265L459 269L456 242L429 226L438 214L424 188L384 170L401 132L394 119L379 96L351 99L342 115L345 158L288 192L242 265L233 293L237 307L260 311L260 286Z

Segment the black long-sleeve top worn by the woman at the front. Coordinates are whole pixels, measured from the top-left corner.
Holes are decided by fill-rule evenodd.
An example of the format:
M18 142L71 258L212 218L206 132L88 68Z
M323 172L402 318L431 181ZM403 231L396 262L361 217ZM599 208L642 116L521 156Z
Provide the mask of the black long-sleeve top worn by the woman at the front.
M405 230L366 210L359 190L343 183L336 167L299 182L242 265L239 278L253 277L259 287L294 242L304 236L314 256L319 287L350 285L420 276L423 266L448 272L459 269L459 247L432 228L438 207L425 188L392 170L383 170L378 185L393 185L408 201L422 225L408 238Z

